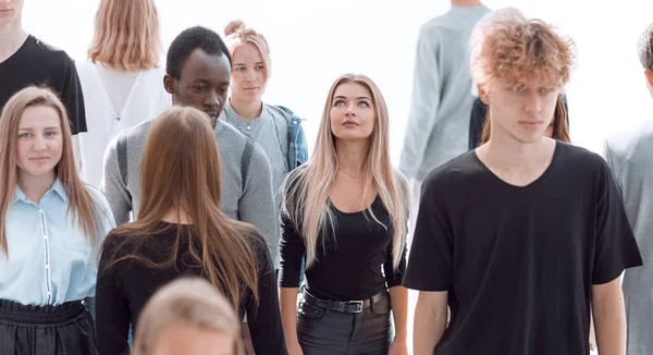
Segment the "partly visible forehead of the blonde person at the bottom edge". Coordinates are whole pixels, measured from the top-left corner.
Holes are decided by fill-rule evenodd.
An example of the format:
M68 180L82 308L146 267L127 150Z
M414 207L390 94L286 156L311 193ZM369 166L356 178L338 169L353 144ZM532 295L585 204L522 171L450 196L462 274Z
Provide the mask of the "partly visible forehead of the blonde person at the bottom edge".
M233 335L177 322L165 327L152 355L235 355Z

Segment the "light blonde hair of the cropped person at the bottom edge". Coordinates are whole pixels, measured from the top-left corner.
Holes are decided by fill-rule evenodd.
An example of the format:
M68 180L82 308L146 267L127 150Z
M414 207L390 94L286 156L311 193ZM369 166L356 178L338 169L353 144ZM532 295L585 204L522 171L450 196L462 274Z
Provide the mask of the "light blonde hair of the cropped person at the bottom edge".
M134 336L134 354L152 354L163 330L176 323L225 333L234 340L233 354L245 354L236 313L215 287L200 278L177 279L147 302Z

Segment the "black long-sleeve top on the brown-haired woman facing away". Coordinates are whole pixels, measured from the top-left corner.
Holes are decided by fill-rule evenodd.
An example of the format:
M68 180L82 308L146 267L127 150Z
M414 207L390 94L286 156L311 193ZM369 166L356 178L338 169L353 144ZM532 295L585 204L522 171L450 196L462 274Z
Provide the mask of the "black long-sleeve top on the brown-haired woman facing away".
M190 232L182 224L168 224L167 231L151 235L144 244L136 246L128 235L110 234L100 257L96 292L97 345L100 355L128 354L127 335L130 323L136 329L138 316L152 294L164 284L182 276L207 277L197 261L188 255L189 237L182 237L177 253L177 262L165 269L155 269L143 261L128 259L120 261L104 270L114 252L120 258L135 249L149 260L167 260L181 230L182 235ZM132 236L133 238L133 236ZM201 249L197 238L197 249ZM241 297L238 314L247 313L247 321L256 354L287 354L281 315L275 273L264 238L256 233L251 235L255 264L259 271L259 305L256 307L250 291ZM122 246L121 246L122 245Z

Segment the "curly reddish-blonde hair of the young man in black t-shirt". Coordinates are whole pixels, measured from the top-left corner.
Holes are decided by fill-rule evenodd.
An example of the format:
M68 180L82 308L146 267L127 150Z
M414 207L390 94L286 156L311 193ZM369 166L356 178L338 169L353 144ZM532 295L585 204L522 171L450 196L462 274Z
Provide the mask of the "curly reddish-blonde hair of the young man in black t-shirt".
M497 81L522 79L563 87L569 81L574 59L571 39L513 8L485 15L471 36L471 76L484 90Z

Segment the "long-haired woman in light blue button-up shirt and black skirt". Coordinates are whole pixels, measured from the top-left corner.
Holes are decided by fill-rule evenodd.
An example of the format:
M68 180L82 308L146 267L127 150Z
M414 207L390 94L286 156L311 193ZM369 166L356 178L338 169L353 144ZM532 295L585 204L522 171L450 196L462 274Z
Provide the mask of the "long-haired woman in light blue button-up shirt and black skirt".
M57 95L37 87L0 117L2 355L96 354L98 247L115 222L78 176L67 122Z

